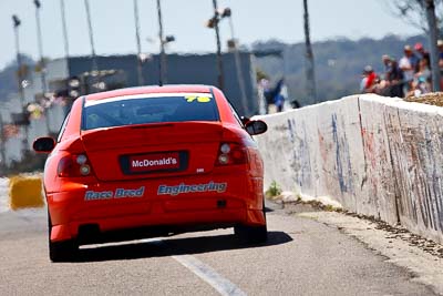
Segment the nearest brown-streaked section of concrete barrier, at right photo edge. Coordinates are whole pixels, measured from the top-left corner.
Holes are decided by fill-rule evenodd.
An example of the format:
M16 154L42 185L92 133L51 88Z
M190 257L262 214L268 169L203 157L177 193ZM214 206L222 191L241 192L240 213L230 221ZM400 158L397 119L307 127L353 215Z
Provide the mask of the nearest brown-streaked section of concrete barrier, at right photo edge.
M387 106L399 220L443 242L443 109L399 103Z

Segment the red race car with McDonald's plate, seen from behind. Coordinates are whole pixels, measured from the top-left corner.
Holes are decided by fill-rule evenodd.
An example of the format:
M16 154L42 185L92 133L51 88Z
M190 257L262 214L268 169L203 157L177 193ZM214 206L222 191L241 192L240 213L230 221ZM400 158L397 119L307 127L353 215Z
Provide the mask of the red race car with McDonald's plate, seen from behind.
M264 165L240 119L207 85L122 89L74 101L59 137L34 141L44 167L49 254L79 245L234 227L267 239Z

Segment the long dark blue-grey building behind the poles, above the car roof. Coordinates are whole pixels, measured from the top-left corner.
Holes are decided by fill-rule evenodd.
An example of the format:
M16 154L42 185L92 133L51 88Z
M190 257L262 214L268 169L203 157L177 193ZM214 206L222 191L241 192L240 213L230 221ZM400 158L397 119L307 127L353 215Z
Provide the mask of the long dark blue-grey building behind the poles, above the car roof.
M247 52L240 53L239 57L246 102L241 101L243 95L237 75L238 68L236 68L234 53L223 54L224 93L240 115L254 115L258 113L255 57ZM91 57L55 59L48 62L48 92L66 91L66 82L71 78L80 78L82 82L81 92L83 93L138 85L135 54L96 57L96 65L100 75L92 76ZM158 54L148 55L143 62L142 69L145 85L158 84ZM166 69L166 84L218 84L215 54L168 54ZM34 73L31 85L25 89L28 102L33 102L42 96L39 75L39 73Z

